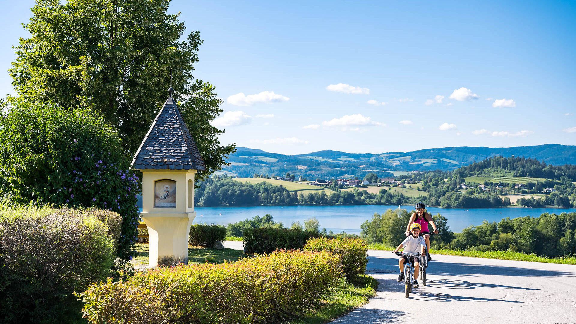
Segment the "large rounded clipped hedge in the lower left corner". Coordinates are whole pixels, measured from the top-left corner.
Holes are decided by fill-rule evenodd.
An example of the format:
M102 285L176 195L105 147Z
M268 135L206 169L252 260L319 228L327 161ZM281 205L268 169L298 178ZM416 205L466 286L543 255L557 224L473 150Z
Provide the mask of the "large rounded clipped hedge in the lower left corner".
M72 292L110 274L113 247L88 210L0 206L0 322L78 320Z

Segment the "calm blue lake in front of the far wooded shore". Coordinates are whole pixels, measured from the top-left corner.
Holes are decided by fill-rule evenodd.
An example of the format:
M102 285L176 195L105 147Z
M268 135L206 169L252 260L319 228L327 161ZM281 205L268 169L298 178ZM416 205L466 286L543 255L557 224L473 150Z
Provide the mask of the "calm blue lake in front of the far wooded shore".
M271 214L276 222L282 222L290 227L292 222L316 217L320 228L339 233L359 233L363 221L372 218L374 213L384 213L386 209L397 209L398 206L257 206L257 207L196 207L197 223L214 223L228 225L256 215ZM413 210L411 206L401 206L402 209ZM479 208L479 209L442 209L429 207L427 210L448 219L448 226L453 232L461 232L469 225L480 225L482 221L500 221L502 218L532 216L542 213L576 212L576 208Z

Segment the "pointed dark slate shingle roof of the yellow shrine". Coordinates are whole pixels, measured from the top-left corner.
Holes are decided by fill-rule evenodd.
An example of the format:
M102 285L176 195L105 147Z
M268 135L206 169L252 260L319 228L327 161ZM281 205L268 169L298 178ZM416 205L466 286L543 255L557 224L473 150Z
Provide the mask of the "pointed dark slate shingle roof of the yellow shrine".
M170 96L134 155L136 169L196 169L205 171L196 142Z

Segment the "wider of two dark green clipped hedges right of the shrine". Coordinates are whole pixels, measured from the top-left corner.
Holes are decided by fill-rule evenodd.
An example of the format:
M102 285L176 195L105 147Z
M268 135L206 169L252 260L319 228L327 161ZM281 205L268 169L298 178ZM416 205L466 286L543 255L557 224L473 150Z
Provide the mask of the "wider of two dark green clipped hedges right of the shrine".
M246 253L271 253L275 250L302 250L310 238L320 233L301 229L249 228L244 229L244 250Z

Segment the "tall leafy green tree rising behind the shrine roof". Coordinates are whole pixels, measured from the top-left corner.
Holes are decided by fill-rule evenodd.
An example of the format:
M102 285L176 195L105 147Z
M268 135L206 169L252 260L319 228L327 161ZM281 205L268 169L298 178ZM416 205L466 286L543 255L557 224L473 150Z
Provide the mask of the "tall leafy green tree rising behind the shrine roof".
M203 43L198 31L184 40L169 0L36 0L24 25L30 38L14 47L10 69L18 95L67 109L101 111L134 153L172 87L204 159L203 179L220 169L234 144L221 146L223 130L210 124L221 112L213 85L192 76Z

